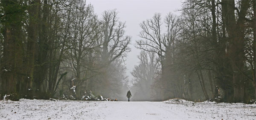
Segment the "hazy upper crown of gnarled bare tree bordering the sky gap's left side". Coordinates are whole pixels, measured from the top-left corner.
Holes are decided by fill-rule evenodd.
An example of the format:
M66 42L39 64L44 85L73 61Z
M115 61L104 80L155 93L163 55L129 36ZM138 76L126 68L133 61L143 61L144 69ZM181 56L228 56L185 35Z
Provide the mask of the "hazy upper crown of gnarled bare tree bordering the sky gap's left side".
M104 11L102 17L102 61L111 63L118 57L124 58L130 51L131 37L124 36L125 23L118 20L116 10Z

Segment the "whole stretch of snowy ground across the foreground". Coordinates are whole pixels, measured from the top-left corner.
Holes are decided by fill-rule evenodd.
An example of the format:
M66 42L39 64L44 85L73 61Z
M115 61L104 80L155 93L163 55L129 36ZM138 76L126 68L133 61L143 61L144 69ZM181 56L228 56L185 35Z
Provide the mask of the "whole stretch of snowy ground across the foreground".
M0 120L47 119L157 119L157 120L256 120L256 104L111 101L0 101Z

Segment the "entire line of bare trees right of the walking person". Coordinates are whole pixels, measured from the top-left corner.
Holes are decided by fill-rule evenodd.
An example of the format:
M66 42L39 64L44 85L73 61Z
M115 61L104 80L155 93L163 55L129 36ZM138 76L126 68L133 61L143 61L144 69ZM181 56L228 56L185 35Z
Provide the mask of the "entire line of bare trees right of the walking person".
M140 63L131 73L143 90L134 97L256 99L255 0L185 0L180 12L140 23Z

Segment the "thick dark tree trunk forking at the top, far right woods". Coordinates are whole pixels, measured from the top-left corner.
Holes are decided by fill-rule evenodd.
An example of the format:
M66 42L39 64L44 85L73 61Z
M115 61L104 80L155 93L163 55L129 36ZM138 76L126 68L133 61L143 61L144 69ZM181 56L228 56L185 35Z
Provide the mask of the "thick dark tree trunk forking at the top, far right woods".
M233 102L241 102L244 100L245 82L244 71L244 17L249 8L249 0L241 1L241 11L238 11L238 20L235 17L235 0L223 0L222 6L225 24L228 33L228 56L233 70Z

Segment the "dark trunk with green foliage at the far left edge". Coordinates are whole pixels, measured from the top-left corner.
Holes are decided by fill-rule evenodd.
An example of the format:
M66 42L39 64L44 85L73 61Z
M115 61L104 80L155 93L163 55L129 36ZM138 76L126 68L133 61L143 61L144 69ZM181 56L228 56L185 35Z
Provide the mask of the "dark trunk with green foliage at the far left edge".
M24 9L22 9L22 2L1 1L3 10L6 14L3 19L7 20L1 23L4 29L3 33L3 57L1 59L0 69L0 94L17 93L20 78L22 76L23 64L23 36L22 36L22 21ZM1 19L2 19L1 18ZM1 99L1 96L0 96Z

